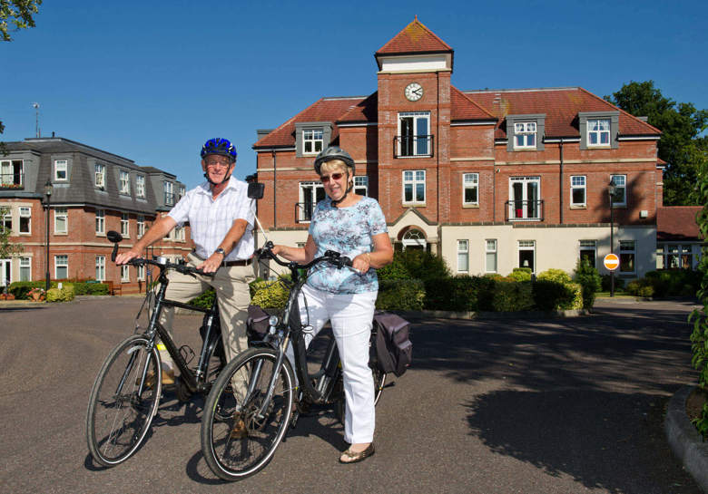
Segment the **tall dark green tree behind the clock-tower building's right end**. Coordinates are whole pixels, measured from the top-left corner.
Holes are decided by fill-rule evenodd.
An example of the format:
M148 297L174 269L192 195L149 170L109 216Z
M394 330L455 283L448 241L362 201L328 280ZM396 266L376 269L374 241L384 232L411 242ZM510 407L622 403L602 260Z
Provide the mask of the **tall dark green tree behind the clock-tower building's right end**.
M648 117L647 122L662 131L658 154L668 163L664 204L700 204L698 170L708 162L708 137L701 134L708 128L708 111L664 97L654 81L629 82L605 100L634 116Z

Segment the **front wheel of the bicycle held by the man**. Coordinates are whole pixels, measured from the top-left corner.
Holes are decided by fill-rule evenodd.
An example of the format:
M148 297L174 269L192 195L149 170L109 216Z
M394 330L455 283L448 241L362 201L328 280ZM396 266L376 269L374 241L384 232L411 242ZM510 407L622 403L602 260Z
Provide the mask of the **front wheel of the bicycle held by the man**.
M160 355L133 335L105 359L93 383L86 413L86 440L93 460L112 467L141 445L160 402Z

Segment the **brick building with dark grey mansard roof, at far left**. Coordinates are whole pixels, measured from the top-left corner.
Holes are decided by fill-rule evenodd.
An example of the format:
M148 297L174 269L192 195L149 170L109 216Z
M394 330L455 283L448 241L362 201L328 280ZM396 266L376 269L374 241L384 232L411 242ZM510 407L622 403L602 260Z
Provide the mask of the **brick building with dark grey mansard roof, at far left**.
M50 278L111 281L123 294L144 291L144 268L115 266L106 232L121 232L121 246L131 247L156 215L182 197L182 182L172 173L63 138L6 142L5 148L0 155L2 221L13 231L10 241L22 244L23 252L0 259L0 287L45 279L45 187L51 183ZM173 230L146 254L183 257L192 249L186 230Z

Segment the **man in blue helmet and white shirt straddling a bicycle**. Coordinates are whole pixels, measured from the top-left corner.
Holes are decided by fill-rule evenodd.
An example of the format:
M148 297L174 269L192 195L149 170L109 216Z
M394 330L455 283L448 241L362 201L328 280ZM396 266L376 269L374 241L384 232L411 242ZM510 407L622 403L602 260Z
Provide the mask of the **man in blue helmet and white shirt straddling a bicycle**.
M207 140L202 147L202 170L206 182L191 189L177 205L141 237L133 248L115 258L123 265L140 257L146 247L165 237L172 228L189 222L195 249L189 264L215 276L195 278L175 271L169 275L166 298L187 302L208 286L216 291L221 316L221 337L226 361L248 348L246 318L251 303L249 283L254 279L253 222L255 203L248 198L248 185L231 177L236 163L236 148L226 139ZM174 309L162 311L161 323L172 332ZM162 383L174 383L172 358L159 344Z

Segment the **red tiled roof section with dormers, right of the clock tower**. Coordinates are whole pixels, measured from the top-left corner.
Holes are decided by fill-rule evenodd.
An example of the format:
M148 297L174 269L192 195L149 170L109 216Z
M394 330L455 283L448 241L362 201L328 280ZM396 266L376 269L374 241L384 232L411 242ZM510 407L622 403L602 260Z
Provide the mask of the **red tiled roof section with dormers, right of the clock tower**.
M498 119L495 138L506 139L506 115L546 113L546 137L580 137L579 111L619 110L621 136L658 136L661 131L580 87L466 91Z

